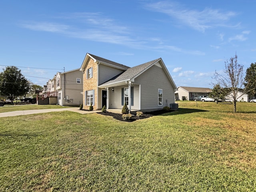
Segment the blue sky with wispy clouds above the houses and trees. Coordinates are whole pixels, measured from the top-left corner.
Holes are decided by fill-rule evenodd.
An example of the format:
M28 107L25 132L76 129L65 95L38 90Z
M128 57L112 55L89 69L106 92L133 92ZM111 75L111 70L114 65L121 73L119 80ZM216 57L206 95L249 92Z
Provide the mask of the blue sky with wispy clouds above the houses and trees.
M176 86L212 88L235 54L256 62L254 0L1 0L0 72L43 86L86 53L126 66L162 58ZM156 78L159 78L156 74Z

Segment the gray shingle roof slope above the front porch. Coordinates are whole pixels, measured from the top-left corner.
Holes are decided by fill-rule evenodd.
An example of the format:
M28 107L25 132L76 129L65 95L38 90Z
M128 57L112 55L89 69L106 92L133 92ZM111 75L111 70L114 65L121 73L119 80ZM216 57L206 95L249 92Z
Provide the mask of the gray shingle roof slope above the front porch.
M132 67L132 68L128 68L125 72L115 76L114 78L108 80L107 82L105 82L101 85L112 84L112 83L132 79L136 75L140 74L140 72L145 70L147 67L149 67L150 65L152 65L154 62L156 62L159 59L156 59L156 60L153 60L153 61L150 61L150 62L146 62L144 64L141 64L141 65L138 65L138 66L135 66L135 67Z

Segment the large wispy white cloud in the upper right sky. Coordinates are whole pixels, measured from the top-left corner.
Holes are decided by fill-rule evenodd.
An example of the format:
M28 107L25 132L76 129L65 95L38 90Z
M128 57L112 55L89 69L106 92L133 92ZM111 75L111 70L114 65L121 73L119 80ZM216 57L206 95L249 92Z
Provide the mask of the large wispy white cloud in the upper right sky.
M178 3L174 4L166 1L147 4L146 8L176 18L187 26L201 32L215 26L234 27L226 24L226 22L237 15L235 12L221 12L210 8L205 8L202 11L189 10L188 8L181 8Z

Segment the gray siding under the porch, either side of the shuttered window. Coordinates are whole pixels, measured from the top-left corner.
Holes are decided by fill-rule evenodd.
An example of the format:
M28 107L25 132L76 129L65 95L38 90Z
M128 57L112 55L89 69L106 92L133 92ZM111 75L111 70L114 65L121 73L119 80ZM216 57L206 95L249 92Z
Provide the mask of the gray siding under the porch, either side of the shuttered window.
M109 90L109 108L110 109L122 109L122 88L128 88L129 86L118 86L114 88L114 92ZM132 85L134 87L134 98L133 98L133 106L131 106L132 110L140 110L140 102L139 102L139 85Z

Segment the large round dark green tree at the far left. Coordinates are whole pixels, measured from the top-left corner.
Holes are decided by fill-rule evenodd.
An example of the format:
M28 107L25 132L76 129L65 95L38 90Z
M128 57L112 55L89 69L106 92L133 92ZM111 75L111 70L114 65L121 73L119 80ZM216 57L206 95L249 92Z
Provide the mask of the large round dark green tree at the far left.
M15 66L7 66L0 73L0 94L8 96L11 100L30 91L30 82Z

